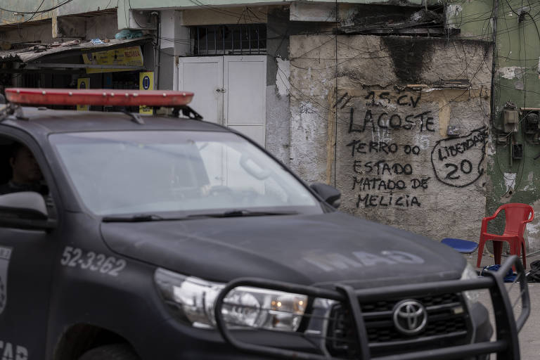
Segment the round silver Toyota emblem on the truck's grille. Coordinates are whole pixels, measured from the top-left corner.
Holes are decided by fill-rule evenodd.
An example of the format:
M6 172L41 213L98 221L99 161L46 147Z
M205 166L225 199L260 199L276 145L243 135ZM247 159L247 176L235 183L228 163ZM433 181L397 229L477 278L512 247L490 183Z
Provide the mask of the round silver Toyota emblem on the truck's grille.
M415 335L428 323L428 313L423 304L416 300L403 300L394 307L394 326L400 333Z

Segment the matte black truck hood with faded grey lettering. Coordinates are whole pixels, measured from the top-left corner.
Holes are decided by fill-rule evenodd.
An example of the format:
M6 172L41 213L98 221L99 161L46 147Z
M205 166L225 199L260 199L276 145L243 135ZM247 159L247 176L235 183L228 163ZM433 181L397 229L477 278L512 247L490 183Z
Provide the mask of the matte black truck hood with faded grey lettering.
M341 212L102 223L101 233L126 257L219 282L368 288L455 279L465 267L446 245Z

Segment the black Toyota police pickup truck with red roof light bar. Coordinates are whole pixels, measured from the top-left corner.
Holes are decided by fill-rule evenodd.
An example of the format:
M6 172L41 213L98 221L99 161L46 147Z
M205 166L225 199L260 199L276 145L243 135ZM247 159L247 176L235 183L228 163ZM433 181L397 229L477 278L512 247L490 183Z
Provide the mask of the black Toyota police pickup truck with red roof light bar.
M338 212L335 188L200 121L192 96L6 90L0 359L520 359L516 257L479 278L445 245Z

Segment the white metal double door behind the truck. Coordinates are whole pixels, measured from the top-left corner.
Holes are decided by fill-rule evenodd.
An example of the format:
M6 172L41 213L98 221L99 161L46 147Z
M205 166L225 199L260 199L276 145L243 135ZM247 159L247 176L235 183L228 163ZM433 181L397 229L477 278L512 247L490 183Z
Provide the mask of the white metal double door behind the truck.
M264 146L266 56L179 58L179 90L193 91L193 110Z

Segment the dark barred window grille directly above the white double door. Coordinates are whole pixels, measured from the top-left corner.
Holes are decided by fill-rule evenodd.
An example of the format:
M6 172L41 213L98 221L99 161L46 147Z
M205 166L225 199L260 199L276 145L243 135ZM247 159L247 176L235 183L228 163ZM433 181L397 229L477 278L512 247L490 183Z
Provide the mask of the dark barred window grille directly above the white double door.
M193 56L266 53L266 24L193 26L189 33Z

